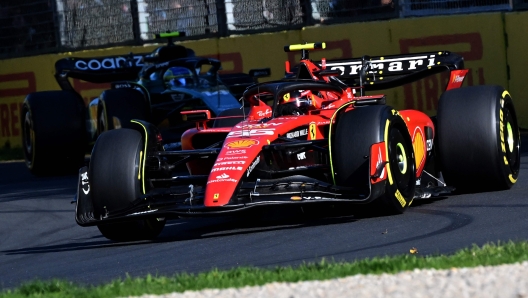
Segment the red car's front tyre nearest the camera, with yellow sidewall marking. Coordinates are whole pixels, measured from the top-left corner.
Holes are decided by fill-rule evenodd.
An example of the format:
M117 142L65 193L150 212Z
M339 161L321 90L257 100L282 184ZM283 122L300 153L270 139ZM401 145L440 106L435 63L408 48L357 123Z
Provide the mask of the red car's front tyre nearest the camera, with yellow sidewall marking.
M332 144L336 183L368 195L370 147L380 142L385 142L388 152L386 186L370 204L369 212L400 214L414 198L416 166L407 127L389 106L357 107L339 116Z

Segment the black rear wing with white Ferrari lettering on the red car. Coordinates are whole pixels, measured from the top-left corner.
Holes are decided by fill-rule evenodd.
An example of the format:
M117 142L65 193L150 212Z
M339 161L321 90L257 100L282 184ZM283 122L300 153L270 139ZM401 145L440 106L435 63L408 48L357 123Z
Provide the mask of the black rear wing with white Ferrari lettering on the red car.
M326 71L336 71L335 77L351 87L382 90L412 83L443 71L464 68L464 58L455 53L425 52L346 60L315 61Z

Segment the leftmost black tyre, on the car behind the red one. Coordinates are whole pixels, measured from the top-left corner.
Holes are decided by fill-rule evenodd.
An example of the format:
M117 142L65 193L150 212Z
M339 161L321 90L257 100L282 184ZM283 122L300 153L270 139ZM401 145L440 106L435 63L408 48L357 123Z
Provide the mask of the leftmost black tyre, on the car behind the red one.
M22 149L35 175L76 173L87 146L86 107L70 91L29 94L21 109Z

